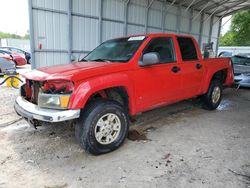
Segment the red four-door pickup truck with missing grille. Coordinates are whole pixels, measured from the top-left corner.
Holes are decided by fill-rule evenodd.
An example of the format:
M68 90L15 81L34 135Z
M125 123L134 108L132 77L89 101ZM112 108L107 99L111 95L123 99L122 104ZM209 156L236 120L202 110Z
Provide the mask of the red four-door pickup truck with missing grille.
M80 146L95 155L123 143L130 116L194 97L216 109L234 80L230 59L203 59L193 37L175 34L108 40L78 62L24 77L17 114L35 126L76 120Z

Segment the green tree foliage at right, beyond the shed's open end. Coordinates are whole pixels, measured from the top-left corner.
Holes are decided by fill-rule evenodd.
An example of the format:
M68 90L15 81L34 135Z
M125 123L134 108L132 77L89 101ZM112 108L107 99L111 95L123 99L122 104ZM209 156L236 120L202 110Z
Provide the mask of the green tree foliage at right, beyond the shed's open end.
M230 30L220 37L220 46L250 46L250 10L233 15Z

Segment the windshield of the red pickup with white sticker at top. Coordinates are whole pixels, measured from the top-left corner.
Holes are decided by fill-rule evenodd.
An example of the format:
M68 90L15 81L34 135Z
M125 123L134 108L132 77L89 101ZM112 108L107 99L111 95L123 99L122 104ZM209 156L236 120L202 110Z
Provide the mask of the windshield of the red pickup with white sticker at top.
M127 62L133 57L145 38L145 36L137 36L106 41L81 61Z

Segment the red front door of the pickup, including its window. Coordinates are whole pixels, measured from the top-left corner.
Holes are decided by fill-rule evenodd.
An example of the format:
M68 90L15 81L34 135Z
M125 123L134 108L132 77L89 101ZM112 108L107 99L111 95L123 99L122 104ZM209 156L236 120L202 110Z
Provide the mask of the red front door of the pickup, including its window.
M139 66L134 72L137 111L145 111L178 100L181 76L173 71L177 66L172 37L153 38L143 50L159 54L160 62ZM142 60L142 58L141 58Z

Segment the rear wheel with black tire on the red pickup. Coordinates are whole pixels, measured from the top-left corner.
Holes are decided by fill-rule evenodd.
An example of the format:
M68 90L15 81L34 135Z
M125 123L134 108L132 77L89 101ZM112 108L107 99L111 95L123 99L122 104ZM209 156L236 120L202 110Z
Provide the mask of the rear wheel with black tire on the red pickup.
M219 96L213 99L213 92L219 90ZM215 110L221 102L222 99L222 83L220 80L212 80L208 88L208 92L201 97L203 108L206 110Z

